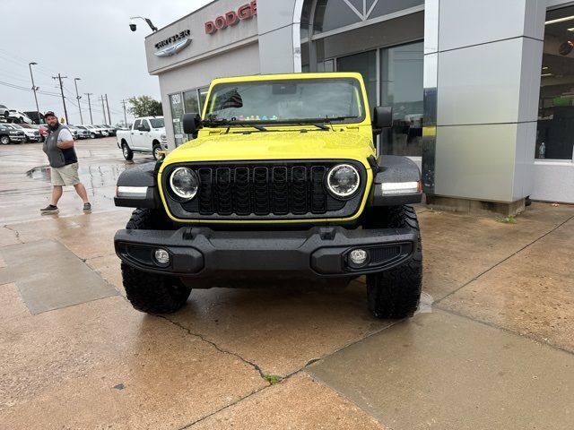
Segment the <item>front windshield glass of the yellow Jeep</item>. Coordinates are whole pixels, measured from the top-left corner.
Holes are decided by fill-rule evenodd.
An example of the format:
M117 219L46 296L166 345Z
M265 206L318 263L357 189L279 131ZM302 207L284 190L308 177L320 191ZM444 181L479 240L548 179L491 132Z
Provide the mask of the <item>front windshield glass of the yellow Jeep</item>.
M355 79L300 79L215 85L207 121L289 123L306 120L361 122L361 87Z

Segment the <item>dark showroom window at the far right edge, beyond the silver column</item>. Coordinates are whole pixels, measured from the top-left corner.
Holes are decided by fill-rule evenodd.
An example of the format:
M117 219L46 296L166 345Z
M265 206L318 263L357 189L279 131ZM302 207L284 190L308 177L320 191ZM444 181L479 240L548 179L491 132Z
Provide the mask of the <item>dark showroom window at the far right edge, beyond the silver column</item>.
M536 159L574 160L574 6L548 11L544 28Z

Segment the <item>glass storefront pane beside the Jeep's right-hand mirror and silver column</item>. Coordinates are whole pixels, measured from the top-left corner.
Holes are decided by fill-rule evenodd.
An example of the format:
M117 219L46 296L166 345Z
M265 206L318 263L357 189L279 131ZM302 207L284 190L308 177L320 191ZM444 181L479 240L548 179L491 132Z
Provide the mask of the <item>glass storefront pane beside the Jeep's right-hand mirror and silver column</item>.
M393 107L393 127L382 153L422 154L422 42L381 49L380 105Z

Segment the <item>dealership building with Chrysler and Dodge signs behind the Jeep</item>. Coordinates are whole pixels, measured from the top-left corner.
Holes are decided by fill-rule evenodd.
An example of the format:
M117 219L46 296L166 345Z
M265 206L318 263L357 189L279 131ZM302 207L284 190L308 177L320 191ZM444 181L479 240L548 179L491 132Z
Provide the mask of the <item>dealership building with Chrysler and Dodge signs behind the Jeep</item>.
M508 213L574 202L573 47L564 0L216 0L145 39L171 147L213 78L359 72L427 202Z

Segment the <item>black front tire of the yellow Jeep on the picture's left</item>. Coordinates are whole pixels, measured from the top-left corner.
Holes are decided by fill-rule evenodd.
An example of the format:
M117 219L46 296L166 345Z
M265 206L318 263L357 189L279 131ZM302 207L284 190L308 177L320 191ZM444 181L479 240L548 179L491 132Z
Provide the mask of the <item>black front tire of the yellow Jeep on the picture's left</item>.
M127 229L170 228L165 213L152 209L136 209L127 222ZM171 314L186 305L191 288L178 278L139 271L125 262L121 264L126 297L138 311L148 314Z

